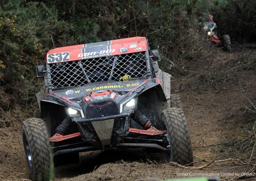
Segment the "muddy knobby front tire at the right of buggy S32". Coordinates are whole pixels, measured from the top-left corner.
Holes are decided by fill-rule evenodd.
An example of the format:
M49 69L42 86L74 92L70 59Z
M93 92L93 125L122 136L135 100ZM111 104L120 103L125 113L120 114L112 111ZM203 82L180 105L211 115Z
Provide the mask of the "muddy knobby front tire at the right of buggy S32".
M180 108L168 108L161 115L162 129L166 129L169 137L170 151L166 151L167 161L178 164L193 162L189 128Z

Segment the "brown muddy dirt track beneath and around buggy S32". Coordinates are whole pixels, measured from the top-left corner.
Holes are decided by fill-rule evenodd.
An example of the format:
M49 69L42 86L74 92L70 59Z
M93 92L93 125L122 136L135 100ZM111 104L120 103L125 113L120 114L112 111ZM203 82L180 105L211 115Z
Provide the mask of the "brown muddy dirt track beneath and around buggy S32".
M207 174L230 180L248 172L256 163L254 153L248 165L256 116L245 110L244 107L251 105L242 91L256 102L256 70L248 66L250 59L256 57L255 51L255 46L251 45L236 45L232 53L213 48L200 59L180 65L178 68L183 76L173 75L172 79L172 93L180 94L189 123L194 167L207 164L215 156L216 160L237 160L217 161L202 169L181 168L166 163L163 153L112 149L81 153L79 164L55 168L55 180L141 181L150 177ZM20 115L6 113L4 117L9 119L0 122L1 180L29 180L20 129L24 118L23 113L17 113Z

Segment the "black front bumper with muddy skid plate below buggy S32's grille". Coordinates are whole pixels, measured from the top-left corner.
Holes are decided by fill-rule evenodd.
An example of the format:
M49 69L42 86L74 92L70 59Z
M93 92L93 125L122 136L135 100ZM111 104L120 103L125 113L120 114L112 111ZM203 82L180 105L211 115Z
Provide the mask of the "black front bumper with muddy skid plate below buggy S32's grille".
M95 147L114 146L128 135L129 112L96 117L96 118L72 118L71 121L78 125L81 139Z

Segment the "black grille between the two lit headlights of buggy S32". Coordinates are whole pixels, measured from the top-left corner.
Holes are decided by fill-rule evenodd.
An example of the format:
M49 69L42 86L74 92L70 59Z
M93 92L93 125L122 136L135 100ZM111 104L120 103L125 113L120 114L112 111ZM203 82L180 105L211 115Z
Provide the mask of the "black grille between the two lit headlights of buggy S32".
M119 113L119 109L112 101L104 101L97 103L90 103L85 111L85 118L98 118L105 116L113 116Z

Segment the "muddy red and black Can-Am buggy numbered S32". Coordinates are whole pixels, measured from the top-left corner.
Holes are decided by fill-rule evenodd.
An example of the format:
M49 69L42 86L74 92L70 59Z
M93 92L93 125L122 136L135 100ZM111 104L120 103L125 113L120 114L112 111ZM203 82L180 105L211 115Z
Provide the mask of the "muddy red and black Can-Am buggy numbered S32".
M46 65L37 66L44 76L40 111L22 126L31 178L53 179L53 165L112 147L157 148L167 161L192 162L180 98L159 60L145 37L50 50Z

